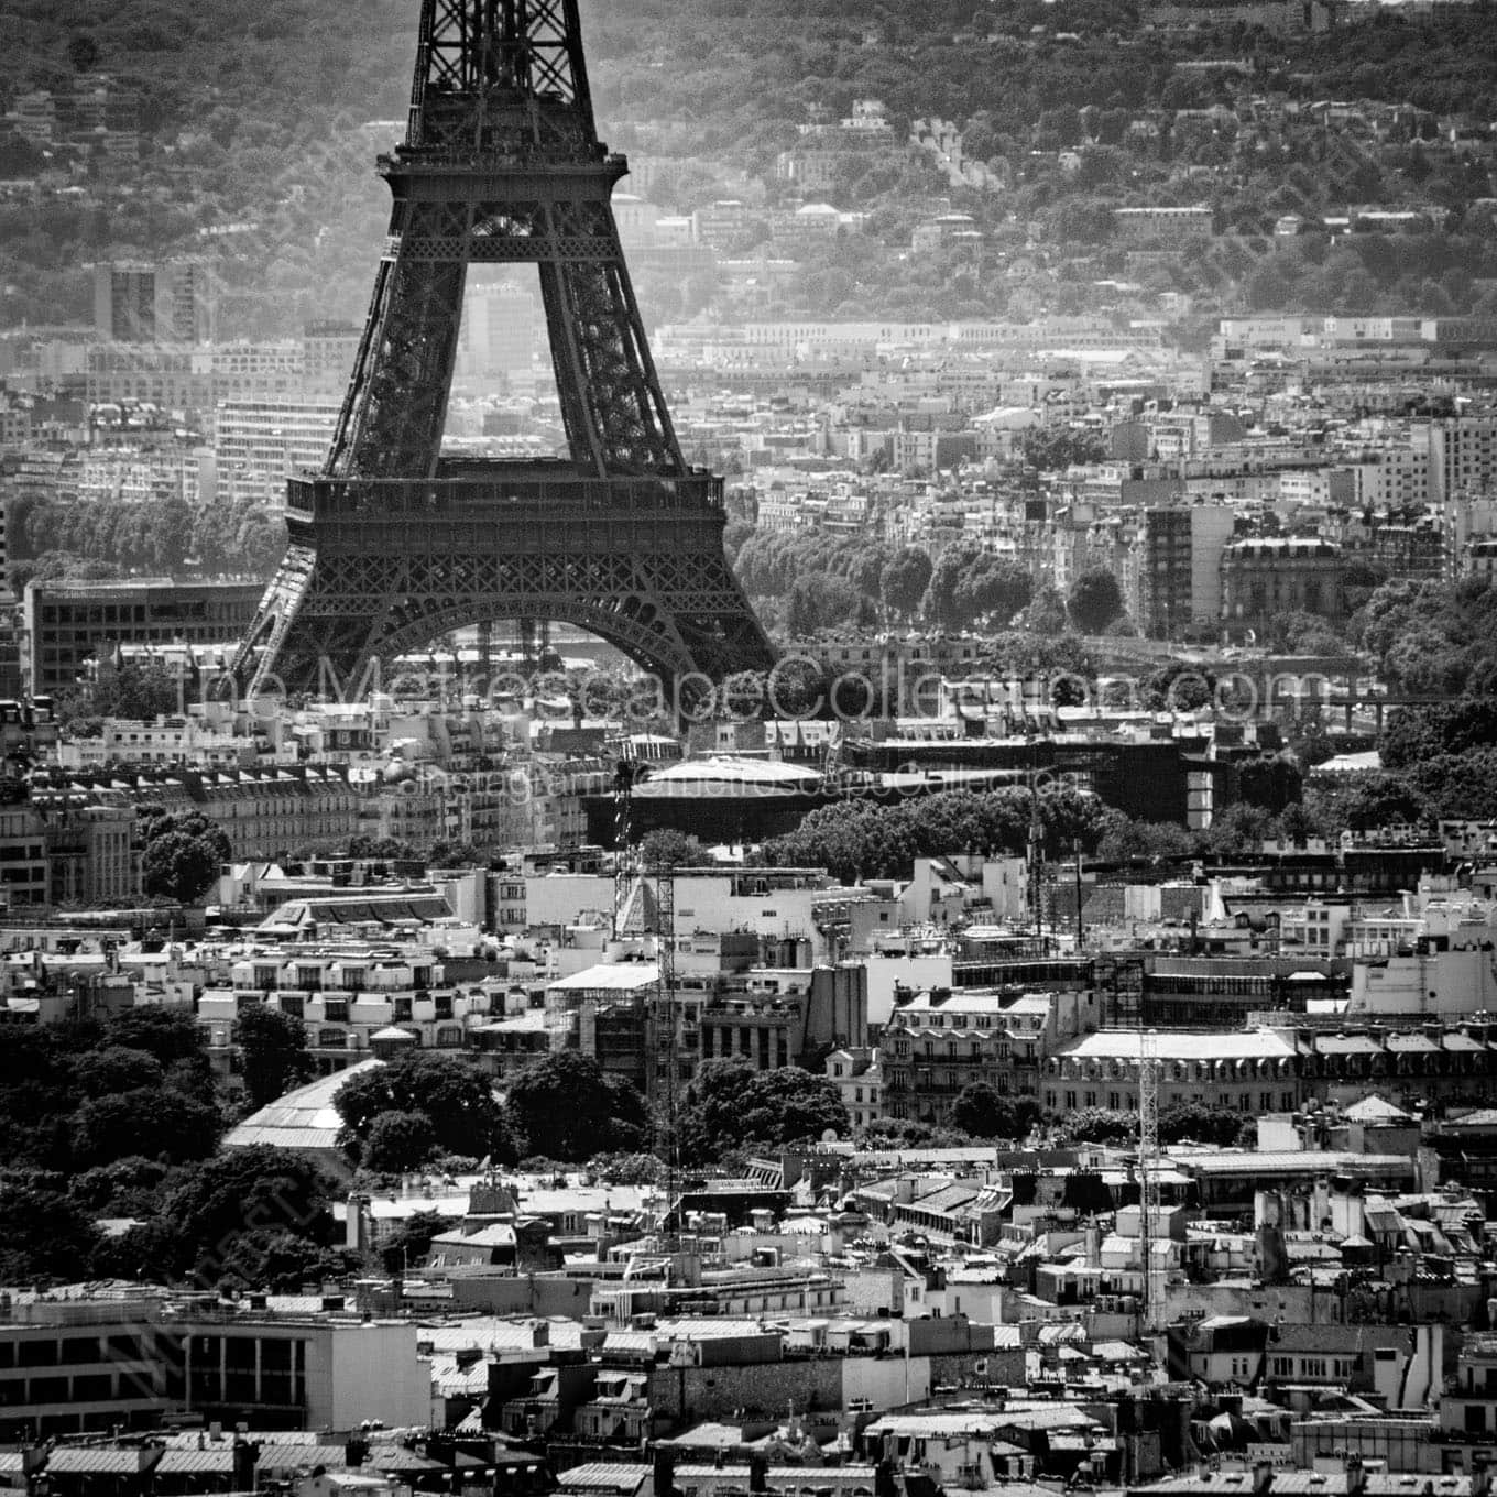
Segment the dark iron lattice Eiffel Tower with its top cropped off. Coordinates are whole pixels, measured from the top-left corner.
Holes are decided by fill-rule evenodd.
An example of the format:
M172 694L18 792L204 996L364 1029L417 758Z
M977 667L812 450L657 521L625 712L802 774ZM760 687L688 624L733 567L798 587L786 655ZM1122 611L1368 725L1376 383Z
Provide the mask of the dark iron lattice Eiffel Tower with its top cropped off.
M326 463L232 672L362 689L470 624L572 623L662 681L765 671L723 555L723 481L681 458L624 266L576 0L422 0L406 141ZM567 460L442 457L470 263L534 263ZM701 677L695 677L701 683ZM702 684L698 686L698 692Z

